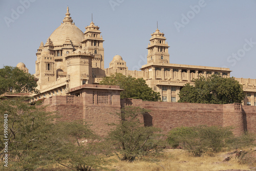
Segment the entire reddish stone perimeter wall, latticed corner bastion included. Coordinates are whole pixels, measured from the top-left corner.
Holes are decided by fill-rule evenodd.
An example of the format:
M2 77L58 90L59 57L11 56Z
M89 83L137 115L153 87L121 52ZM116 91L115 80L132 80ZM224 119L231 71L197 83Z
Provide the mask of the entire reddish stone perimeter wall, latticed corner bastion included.
M106 135L111 127L108 123L118 122L115 115L124 106L140 106L150 110L141 121L147 126L156 126L167 134L178 126L219 125L232 126L233 133L240 135L244 131L256 133L256 106L234 104L195 104L151 102L139 99L118 100L118 93L112 92L113 103L95 104L92 100L95 90L88 90L81 97L53 96L45 99L49 111L56 111L59 120L83 119L91 124L91 129L100 136Z

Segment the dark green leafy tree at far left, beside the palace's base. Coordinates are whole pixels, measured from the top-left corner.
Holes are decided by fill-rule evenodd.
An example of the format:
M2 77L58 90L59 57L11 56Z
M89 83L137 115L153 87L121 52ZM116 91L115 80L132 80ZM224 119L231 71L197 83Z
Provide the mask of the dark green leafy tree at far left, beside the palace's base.
M5 66L0 69L0 94L7 92L38 93L33 75L25 73L17 67Z

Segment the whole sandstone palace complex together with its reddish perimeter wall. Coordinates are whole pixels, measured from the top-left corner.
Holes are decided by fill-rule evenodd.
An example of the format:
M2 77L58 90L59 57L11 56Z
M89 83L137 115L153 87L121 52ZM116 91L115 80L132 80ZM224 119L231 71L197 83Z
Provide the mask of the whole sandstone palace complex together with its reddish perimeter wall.
M147 46L147 63L141 71L131 71L120 55L113 57L109 68L104 68L103 38L93 22L82 32L73 23L67 8L63 23L53 31L47 41L41 42L35 62L35 74L40 94L33 100L45 99L49 109L59 111L64 119L86 119L94 129L104 134L105 122L113 121L111 112L124 105L137 105L153 112L144 116L146 125L159 125L164 132L179 125L233 125L237 133L256 132L256 79L235 78L243 85L246 97L241 104L189 104L175 103L179 91L186 83L199 76L220 74L230 77L228 68L191 66L170 63L166 38L157 28ZM146 45L145 45L146 46ZM28 72L24 63L18 68ZM121 99L119 87L100 86L105 76L114 73L143 78L163 102L144 102ZM164 103L167 102L167 103ZM252 106L247 106L252 105Z

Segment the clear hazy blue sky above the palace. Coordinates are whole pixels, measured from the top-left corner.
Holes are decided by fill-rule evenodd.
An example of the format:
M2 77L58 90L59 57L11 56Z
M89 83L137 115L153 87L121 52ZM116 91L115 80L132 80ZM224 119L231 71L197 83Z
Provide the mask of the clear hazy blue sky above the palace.
M145 65L158 22L170 63L229 68L231 76L256 78L255 0L0 0L0 68L24 62L34 74L40 42L60 26L67 6L82 32L93 13L105 40L104 68L117 54L129 70Z

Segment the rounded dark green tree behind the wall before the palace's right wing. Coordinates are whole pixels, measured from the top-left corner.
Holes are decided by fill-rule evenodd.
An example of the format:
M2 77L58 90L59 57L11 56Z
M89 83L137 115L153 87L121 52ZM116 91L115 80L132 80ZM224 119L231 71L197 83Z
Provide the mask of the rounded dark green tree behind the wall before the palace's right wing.
M194 80L195 85L185 84L180 90L178 102L228 104L241 103L245 94L242 85L231 78L211 75L207 79Z

